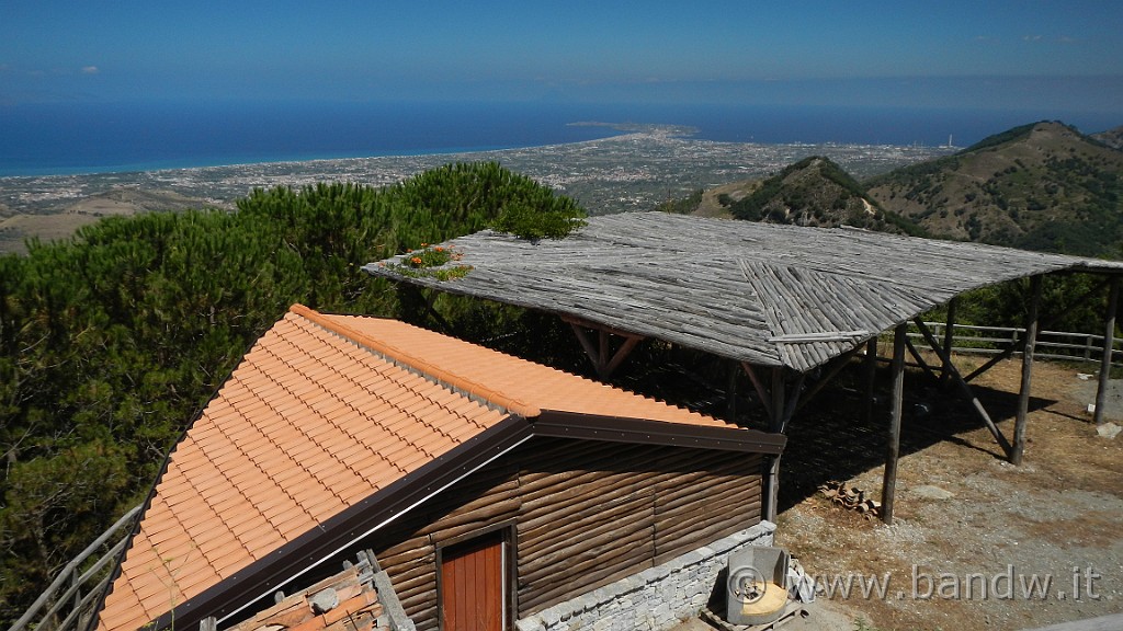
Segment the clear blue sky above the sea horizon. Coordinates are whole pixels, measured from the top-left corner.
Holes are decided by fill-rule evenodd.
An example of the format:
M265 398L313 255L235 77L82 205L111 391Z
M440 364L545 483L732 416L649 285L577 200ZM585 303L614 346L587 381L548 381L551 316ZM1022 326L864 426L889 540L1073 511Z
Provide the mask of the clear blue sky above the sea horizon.
M557 101L1120 112L1123 2L0 0L0 104Z

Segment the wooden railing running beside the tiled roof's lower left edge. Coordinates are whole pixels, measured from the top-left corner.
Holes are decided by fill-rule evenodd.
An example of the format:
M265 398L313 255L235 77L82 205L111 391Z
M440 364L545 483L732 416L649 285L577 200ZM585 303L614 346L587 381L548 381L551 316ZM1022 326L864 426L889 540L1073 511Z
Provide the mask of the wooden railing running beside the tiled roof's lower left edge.
M90 622L91 610L97 606L95 601L106 591L106 585L111 576L111 571L106 571L106 568L117 560L121 549L128 543L133 520L139 512L140 506L134 506L101 537L98 537L93 543L86 546L79 556L74 557L74 560L66 564L66 567L55 577L54 583L36 598L35 603L8 631L25 631L29 628L35 629L35 631L82 631ZM102 552L101 557L89 569L81 571L86 560L97 555L109 540L122 530L125 534L119 537L112 547ZM85 589L83 595L83 588L93 580L97 580L97 584ZM46 611L43 611L44 609ZM61 621L60 616L63 616Z

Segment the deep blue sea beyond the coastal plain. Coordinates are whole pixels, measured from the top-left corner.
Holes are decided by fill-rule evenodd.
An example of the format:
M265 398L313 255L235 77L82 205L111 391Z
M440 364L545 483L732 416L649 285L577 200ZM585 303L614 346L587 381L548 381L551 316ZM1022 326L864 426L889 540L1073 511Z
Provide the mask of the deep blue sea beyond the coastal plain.
M660 124L737 143L968 146L1042 119L1085 132L1108 115L767 106L575 103L0 104L0 176L532 147L619 134L578 121Z

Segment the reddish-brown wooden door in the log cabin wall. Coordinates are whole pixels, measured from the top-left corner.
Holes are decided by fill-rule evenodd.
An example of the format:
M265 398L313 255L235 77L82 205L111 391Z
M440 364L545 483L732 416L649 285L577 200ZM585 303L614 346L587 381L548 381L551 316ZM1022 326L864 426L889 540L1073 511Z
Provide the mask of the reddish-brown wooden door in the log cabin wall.
M502 532L445 548L440 592L445 631L503 631L506 571Z

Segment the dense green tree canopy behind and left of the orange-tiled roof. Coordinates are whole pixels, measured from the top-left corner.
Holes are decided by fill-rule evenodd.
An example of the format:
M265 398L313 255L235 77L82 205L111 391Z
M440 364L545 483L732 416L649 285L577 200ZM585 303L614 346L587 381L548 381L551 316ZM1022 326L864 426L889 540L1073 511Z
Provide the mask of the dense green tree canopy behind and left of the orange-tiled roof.
M256 190L234 212L109 218L0 257L0 625L144 499L177 436L292 303L416 321L423 301L360 266L511 209L532 236L584 216L499 164L450 164L383 189ZM496 321L462 316L469 329Z

